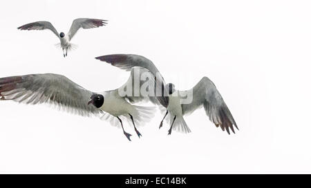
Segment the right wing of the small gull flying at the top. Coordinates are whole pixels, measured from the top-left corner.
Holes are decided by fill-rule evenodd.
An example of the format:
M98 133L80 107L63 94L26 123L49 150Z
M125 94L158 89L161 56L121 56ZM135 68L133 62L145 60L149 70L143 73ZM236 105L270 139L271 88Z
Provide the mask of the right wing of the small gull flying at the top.
M107 20L104 19L75 19L73 21L73 24L71 24L70 30L68 32L69 41L73 39L73 36L75 36L79 28L84 29L99 28L100 26L106 24Z

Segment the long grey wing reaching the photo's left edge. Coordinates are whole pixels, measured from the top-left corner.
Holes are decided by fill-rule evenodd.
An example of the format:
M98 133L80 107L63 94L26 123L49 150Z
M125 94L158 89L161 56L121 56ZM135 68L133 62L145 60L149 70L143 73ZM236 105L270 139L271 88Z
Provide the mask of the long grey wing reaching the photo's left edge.
M88 105L93 92L59 74L28 74L0 78L0 100L19 103L51 103L82 116L100 114Z

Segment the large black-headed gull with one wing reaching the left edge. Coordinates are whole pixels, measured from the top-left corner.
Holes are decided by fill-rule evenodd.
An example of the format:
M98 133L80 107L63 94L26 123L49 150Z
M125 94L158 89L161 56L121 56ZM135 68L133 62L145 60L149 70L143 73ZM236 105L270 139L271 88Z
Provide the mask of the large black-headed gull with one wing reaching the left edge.
M23 76L10 76L0 78L0 100L13 100L26 104L50 103L66 109L68 112L81 116L97 116L102 120L110 121L112 125L121 125L123 134L131 141L131 134L124 130L122 119L133 124L136 134L142 134L136 126L144 125L154 116L155 107L142 107L132 103L151 100L144 96L120 96L119 90L133 85L135 76L148 72L141 67L133 67L131 76L122 87L105 92L91 92L70 81L66 76L59 74L28 74ZM139 75L137 75L139 74ZM151 82L140 81L139 86ZM130 103L131 102L131 103Z

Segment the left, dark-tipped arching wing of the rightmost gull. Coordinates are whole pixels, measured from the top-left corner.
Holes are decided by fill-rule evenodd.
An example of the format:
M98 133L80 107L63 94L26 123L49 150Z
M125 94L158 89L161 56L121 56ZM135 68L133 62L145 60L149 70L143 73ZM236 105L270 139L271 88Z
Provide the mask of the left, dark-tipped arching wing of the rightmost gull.
M122 70L129 71L132 67L144 67L149 70L156 77L156 92L158 101L164 107L169 104L169 92L167 87L165 87L165 81L163 76L158 71L157 67L144 56L134 55L134 54L111 54L106 56L97 56L95 59L100 61L105 61L110 63L115 67L119 67Z

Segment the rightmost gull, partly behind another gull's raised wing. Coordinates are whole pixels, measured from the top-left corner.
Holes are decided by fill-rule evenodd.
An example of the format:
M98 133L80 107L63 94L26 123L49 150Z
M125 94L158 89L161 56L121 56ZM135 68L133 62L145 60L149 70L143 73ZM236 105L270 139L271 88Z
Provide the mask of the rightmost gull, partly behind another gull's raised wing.
M238 129L223 97L216 89L214 83L207 77L203 77L190 90L178 91L175 90L175 85L172 83L165 84L164 79L156 66L144 56L135 54L110 54L97 56L95 59L119 67L122 70L130 70L131 67L135 66L144 67L156 77L157 82L160 81L163 83L162 85L165 85L163 88L165 91L162 92L162 96L158 96L158 98L163 98L162 101L165 101L165 103L160 104L166 108L164 118L169 115L169 123L171 124L168 133L169 135L171 134L172 129L185 133L191 132L183 116L191 114L200 107L204 107L205 113L209 116L209 120L214 123L216 127L220 127L223 131L226 130L228 134L230 134L229 129L231 129L233 133L235 133L234 127ZM160 74L160 76L157 76L157 74ZM167 93L169 94L169 97L165 95ZM181 103L181 100L185 99L187 94L192 94L191 103ZM159 129L162 127L164 118L162 118L162 121L160 122Z

